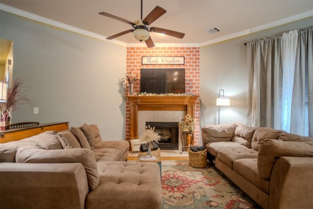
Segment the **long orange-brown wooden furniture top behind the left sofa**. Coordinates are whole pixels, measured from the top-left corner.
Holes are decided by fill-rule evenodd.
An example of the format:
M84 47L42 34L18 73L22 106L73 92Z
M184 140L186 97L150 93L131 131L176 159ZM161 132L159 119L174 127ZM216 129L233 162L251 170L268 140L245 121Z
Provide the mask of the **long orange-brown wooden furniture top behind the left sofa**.
M68 129L68 122L43 123L30 127L9 129L0 132L0 143L17 141L45 131L62 131Z

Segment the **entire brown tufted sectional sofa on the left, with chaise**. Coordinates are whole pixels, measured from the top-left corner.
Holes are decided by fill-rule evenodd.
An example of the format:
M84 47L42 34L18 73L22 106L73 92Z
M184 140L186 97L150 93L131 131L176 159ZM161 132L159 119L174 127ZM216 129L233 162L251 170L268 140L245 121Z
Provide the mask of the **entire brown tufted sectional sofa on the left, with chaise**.
M0 209L160 209L157 163L84 124L0 144Z

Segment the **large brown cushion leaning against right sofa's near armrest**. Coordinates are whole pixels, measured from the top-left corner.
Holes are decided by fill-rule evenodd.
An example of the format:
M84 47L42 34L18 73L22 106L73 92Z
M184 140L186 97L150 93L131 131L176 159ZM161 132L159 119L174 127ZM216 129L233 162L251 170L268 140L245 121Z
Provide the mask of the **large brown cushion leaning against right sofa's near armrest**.
M313 141L282 141L267 139L260 142L258 170L264 179L269 179L277 159L282 156L313 157Z

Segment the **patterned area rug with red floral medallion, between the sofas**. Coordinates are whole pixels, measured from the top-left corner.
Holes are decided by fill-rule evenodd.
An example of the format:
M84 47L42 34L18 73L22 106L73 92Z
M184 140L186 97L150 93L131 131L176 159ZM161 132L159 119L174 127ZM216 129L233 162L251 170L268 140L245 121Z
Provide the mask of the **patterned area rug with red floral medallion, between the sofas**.
M260 209L214 166L162 161L163 209Z

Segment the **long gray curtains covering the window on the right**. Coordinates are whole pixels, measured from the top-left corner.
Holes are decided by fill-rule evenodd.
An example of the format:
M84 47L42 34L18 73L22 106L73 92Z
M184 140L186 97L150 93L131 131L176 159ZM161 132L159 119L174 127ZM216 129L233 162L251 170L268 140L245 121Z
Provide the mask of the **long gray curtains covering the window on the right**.
M248 125L313 137L313 28L247 43Z

